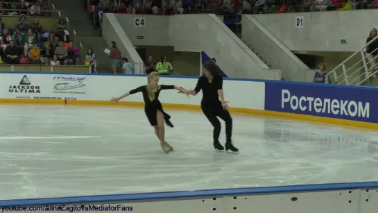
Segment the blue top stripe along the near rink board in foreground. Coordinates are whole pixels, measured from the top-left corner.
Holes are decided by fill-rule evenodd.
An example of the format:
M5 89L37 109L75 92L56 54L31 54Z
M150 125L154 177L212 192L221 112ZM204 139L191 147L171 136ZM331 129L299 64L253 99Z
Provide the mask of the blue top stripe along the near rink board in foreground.
M19 200L0 201L0 206L20 206L20 205L61 205L75 203L126 203L128 201L147 201L157 199L177 199L177 198L203 198L219 196L240 196L246 194L277 194L293 193L304 191L336 191L347 189L377 189L378 182L346 182L330 183L319 185L294 185L282 187L252 187L239 189L208 189L197 191L169 191L153 192L141 194L114 194L96 196L76 196L64 198L31 198Z

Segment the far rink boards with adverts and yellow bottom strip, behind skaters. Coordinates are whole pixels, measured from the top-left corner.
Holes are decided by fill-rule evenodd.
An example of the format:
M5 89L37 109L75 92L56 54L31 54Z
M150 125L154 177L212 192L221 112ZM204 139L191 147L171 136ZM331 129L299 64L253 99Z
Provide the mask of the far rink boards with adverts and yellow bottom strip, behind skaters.
M146 76L27 72L0 75L6 87L0 92L2 104L144 106L141 94L118 103L110 99L145 85ZM197 80L162 76L160 83L190 89ZM230 112L378 130L378 112L371 110L378 108L378 99L370 99L378 95L373 87L224 78L223 88ZM201 99L202 94L187 97L173 90L160 94L165 108L178 110L200 110Z

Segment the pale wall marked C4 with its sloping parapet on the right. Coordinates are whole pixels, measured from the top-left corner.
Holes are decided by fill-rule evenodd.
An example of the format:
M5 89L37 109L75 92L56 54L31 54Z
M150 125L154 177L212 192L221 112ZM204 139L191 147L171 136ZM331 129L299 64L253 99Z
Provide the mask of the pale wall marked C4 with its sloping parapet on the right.
M116 15L134 45L174 46L175 51L205 51L231 78L274 79L269 69L216 15ZM136 27L136 17L145 27ZM144 35L137 40L137 35Z

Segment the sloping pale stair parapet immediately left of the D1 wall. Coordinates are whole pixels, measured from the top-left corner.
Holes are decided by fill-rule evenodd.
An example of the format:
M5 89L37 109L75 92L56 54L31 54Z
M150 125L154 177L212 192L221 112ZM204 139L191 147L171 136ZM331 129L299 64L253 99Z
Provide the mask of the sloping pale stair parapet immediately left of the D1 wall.
M241 39L264 58L271 67L281 69L282 77L311 82L315 70L309 69L282 42L262 26L252 15L243 15Z

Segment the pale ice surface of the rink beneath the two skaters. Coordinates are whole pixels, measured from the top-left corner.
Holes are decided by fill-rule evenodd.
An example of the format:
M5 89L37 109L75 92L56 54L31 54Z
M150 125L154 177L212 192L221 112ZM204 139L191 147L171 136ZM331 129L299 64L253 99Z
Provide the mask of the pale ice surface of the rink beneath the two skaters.
M169 155L143 108L0 105L0 200L378 179L375 132L232 114L218 153L202 112L165 110Z

